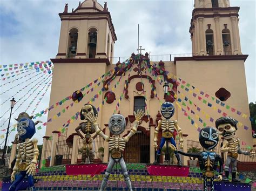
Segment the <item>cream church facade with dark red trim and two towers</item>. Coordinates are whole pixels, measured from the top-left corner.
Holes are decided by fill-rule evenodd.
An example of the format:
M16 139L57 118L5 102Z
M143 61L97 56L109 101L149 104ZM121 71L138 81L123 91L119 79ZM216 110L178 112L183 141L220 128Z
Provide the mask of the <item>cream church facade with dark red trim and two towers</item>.
M124 115L125 135L133 126L133 111L145 111L138 132L126 146L126 162L154 161L154 129L164 101L175 107L172 119L183 131L184 151L197 147L200 128L214 127L215 120L225 115L239 121L241 147L252 146L244 66L248 55L241 53L238 11L226 0L195 0L189 30L190 55L151 62L148 53L132 53L130 58L113 63L117 35L106 3L102 6L96 0L86 0L72 12L66 5L59 13L62 25L58 53L51 59L54 72L50 106L57 105L58 111L49 110L41 161L48 159L50 166L56 165L56 155L64 145L69 148L66 157L78 163L82 140L75 128L83 122L79 112L86 103L97 108L97 122L105 134L110 134L107 124L113 113ZM78 90L84 96L74 102L70 97ZM63 97L69 99L57 104ZM95 158L108 161L108 144L99 136L93 141L93 149ZM187 160L183 158L185 164Z

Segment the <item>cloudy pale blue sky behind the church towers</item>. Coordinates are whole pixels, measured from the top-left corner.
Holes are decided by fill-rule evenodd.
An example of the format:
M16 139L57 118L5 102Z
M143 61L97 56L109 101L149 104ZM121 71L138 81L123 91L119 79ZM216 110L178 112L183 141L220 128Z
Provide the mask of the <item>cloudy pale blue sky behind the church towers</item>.
M58 50L60 18L58 13L63 12L65 3L69 4L69 12L72 8L76 9L79 0L1 0L0 4L0 65L18 64L26 62L36 62L55 58ZM98 1L104 5L104 1ZM140 25L140 45L152 55L156 54L175 54L191 53L191 40L188 29L190 27L191 13L193 10L193 0L169 0L169 1L107 1L107 6L111 13L112 22L117 34L117 42L114 45L115 57L130 56L136 52L137 48L137 24ZM230 0L231 6L240 6L239 29L242 53L249 54L245 63L247 91L249 101L256 101L255 95L255 1L254 0ZM1 72L6 73L6 72ZM38 76L40 76L39 74ZM2 77L1 77L2 78ZM42 77L43 78L43 77ZM42 79L41 78L41 79ZM8 81L12 81L11 78ZM26 78L27 79L27 78ZM27 101L25 94L31 87L38 84L37 80L25 81L21 79L19 83L23 85L12 88L0 95L0 104L9 97L11 98L26 83L31 83L23 92L15 95L15 99L21 99L14 108L11 125L15 124L14 118L18 113L24 112L30 101L42 92L43 85L35 91ZM234 80L234 79L231 79ZM49 81L46 80L45 83ZM0 81L0 85L6 81ZM12 83L1 88L1 93L17 85ZM33 90L31 90L32 92ZM70 92L72 92L71 90ZM30 94L30 93L29 93ZM38 105L35 113L48 107L50 98L50 88L44 95L41 104ZM39 98L36 98L28 113L31 113L33 106ZM245 103L246 104L246 103ZM9 118L10 101L0 105L0 126L3 121ZM6 112L6 113L5 113ZM46 121L46 116L40 120ZM8 121L2 129L6 128ZM42 137L45 127L37 131L36 137ZM10 142L14 139L15 133L10 135ZM3 139L0 139L0 144Z

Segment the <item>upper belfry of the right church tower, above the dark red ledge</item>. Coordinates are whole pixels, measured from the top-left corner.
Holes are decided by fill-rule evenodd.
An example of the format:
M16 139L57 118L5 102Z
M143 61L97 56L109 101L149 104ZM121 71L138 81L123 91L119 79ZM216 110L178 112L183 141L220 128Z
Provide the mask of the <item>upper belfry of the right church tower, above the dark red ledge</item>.
M195 0L190 25L192 53L197 56L241 54L239 7L229 0Z

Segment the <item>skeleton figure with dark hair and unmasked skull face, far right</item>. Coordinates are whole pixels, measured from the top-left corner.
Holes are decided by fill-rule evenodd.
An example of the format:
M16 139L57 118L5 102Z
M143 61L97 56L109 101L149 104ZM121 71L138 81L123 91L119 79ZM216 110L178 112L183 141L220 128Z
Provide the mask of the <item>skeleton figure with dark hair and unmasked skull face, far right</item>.
M240 149L240 139L235 138L235 132L237 131L237 121L231 117L221 117L215 121L215 126L218 129L219 135L223 136L223 146L220 148L220 152L227 152L227 160L225 163L225 181L228 181L230 165L232 173L232 181L239 182L236 179L237 176L237 157L238 154L249 155L250 158L254 158L256 153L252 149L250 152L242 151Z

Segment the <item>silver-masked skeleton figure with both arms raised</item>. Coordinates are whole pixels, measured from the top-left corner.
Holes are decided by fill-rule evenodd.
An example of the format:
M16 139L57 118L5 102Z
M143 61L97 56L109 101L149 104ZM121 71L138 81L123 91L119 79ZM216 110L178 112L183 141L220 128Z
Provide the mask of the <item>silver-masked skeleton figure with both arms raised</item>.
M112 171L112 168L114 166L114 163L119 162L124 179L126 182L126 186L129 188L129 190L132 190L131 181L126 169L125 161L123 158L123 152L125 149L126 142L129 141L129 139L134 135L137 131L138 125L142 117L144 116L144 112L142 110L134 112L135 121L134 125L129 132L128 135L125 137L120 137L120 134L122 134L125 130L126 122L123 115L120 114L114 114L111 116L109 120L109 129L110 132L113 134L112 137L109 137L105 135L98 127L98 124L96 122L97 115L94 117L91 113L86 115L87 120L92 122L93 127L95 127L96 132L99 133L100 136L104 138L105 141L109 142L109 151L110 151L110 157L109 157L109 165L107 165L107 169L104 175L104 179L102 180L102 185L100 186L100 191L103 191L104 188L107 185L107 181L109 180L109 175Z

